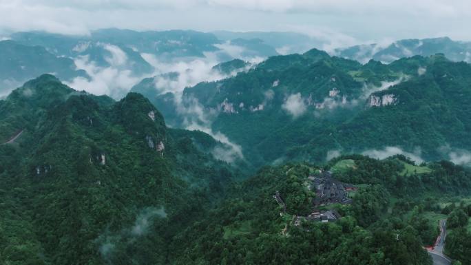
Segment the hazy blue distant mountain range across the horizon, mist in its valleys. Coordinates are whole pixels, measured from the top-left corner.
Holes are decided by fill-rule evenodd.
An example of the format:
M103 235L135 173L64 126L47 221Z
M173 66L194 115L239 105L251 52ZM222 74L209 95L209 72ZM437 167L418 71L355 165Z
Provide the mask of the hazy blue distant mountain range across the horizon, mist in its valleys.
M294 32L196 32L169 30L136 32L104 29L88 36L67 36L47 32L17 32L0 41L0 97L40 74L55 74L69 84L102 89L119 98L135 79L168 74L169 63L187 63L196 59L216 65L233 59L259 63L280 54L304 53L324 47L326 41ZM452 61L470 61L470 43L448 38L402 40L388 45L357 45L331 52L346 59L367 63L370 59L390 63L414 55L443 53ZM41 50L42 49L42 50ZM39 61L43 65L39 67ZM182 65L177 66L185 71ZM188 68L189 69L189 68ZM116 87L114 79L125 76L127 87ZM79 79L76 79L79 78ZM205 81L204 77L202 80ZM186 84L189 85L189 84ZM194 85L194 83L191 83ZM117 91L109 92L110 89Z

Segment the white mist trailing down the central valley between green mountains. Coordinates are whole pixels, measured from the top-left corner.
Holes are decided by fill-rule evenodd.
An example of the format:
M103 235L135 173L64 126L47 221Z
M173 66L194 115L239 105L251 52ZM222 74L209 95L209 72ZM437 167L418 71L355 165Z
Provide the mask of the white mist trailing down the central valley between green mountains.
M238 56L241 56L244 51L242 47L235 47L227 43L219 47L222 52L227 52L234 58L239 58ZM207 52L202 58L182 58L174 61L163 61L153 54L141 54L141 56L156 69L154 77L156 96L166 93L174 94L174 105L176 112L183 118L183 127L189 130L203 131L222 142L224 147L216 147L212 154L215 158L232 163L235 160L244 159L242 147L229 140L220 131L215 132L211 129L211 121L218 115L216 110L205 109L196 98L188 96L183 98L186 87L192 87L203 81L218 81L234 76L240 71L249 70L250 65L261 60L260 58L246 58L246 61L250 63L248 67L224 74L213 69L215 65L220 63L218 61L218 53L220 52ZM273 97L270 94L266 96Z

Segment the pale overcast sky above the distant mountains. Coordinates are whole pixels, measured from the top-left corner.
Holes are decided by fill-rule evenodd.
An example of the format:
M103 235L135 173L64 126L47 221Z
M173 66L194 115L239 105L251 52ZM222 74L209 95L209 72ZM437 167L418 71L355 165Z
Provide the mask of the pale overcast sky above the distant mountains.
M450 36L471 41L469 0L0 0L0 31L294 31L344 44Z

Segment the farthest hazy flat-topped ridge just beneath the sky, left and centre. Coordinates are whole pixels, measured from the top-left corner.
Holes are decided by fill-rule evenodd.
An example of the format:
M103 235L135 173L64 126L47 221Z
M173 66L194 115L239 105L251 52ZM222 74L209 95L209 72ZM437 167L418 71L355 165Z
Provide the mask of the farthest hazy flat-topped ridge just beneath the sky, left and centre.
M41 45L49 52L60 56L75 57L78 54L89 54L87 48L119 47L128 57L138 54L152 54L163 61L172 61L185 57L205 57L214 53L220 61L229 61L233 56L266 57L276 54L270 45L260 39L235 39L229 43L229 50L224 50L224 42L214 34L193 30L167 30L136 32L116 28L95 30L90 36L65 36L47 32L17 32L10 36L23 45ZM240 54L231 53L241 50ZM93 50L92 50L93 51ZM136 54L138 52L138 54ZM84 54L85 53L85 54Z

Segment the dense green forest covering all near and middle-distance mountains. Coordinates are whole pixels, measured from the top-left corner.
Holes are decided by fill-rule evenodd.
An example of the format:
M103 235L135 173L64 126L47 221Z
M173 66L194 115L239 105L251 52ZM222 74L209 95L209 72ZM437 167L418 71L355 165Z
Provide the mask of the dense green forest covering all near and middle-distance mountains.
M242 144L232 163L215 151L227 143L167 127L182 118L171 105L163 115L138 93L115 101L40 76L0 100L0 264L432 264L423 247L443 219L446 254L471 264L468 168L353 154L468 148L469 76L441 55L360 65L311 50L185 89L220 111L213 129ZM290 114L286 95L298 93L306 109ZM389 94L392 104L373 98ZM363 101L316 107L328 95L323 104ZM300 218L313 213L310 182L324 172L355 187L350 202L319 206L335 222Z

